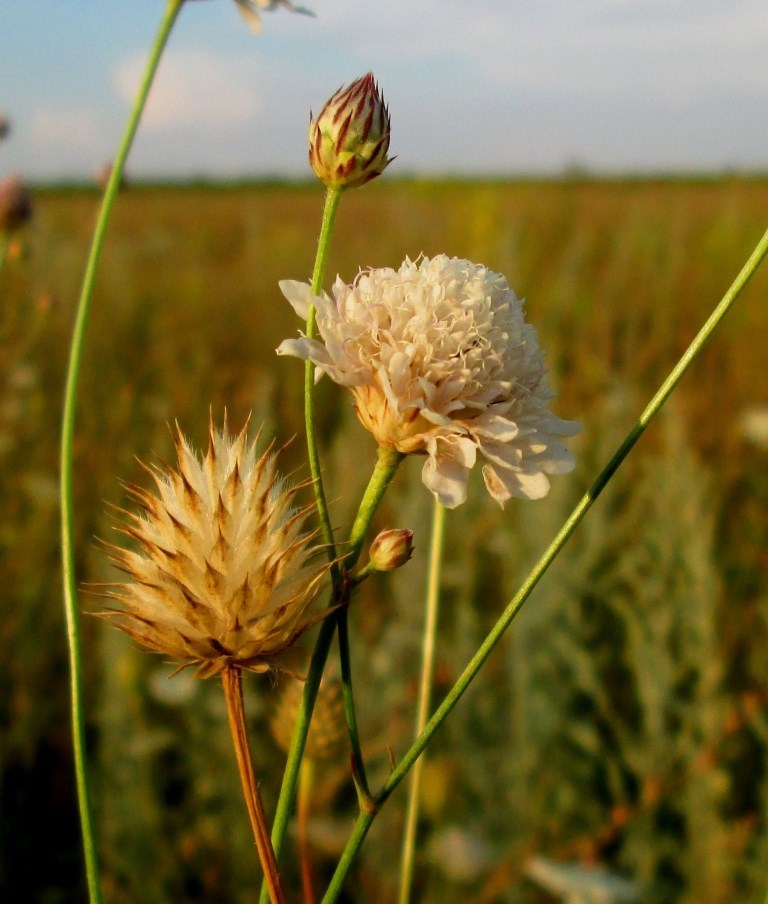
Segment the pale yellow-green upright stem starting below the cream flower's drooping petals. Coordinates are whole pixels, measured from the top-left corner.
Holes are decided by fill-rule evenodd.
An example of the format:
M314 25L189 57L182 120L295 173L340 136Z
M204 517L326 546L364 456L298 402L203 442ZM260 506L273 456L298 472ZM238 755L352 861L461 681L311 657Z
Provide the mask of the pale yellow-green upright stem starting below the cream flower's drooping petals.
M443 539L445 537L445 508L435 500L432 510L432 537L429 547L429 573L427 575L427 593L425 601L424 637L421 648L421 679L419 683L419 701L416 710L416 730L418 737L427 724L432 702L432 681L435 671L435 640L437 639L437 618L440 610L440 572L443 556ZM416 826L419 821L419 793L421 790L421 771L424 759L417 760L411 773L408 787L408 804L405 815L405 831L403 835L403 853L400 864L400 897L399 904L408 904L411 900L413 885L413 868L416 862Z

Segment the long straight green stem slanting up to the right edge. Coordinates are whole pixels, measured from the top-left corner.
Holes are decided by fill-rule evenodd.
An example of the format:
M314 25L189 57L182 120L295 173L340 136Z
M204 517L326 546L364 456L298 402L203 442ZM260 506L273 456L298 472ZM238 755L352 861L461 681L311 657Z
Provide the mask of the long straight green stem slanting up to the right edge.
M695 339L683 353L682 357L672 369L669 376L661 384L656 394L653 396L643 413L638 418L637 422L627 434L626 438L619 445L618 449L611 456L610 460L597 476L592 486L587 490L574 510L568 516L565 523L560 528L547 550L541 556L539 561L534 565L530 574L523 582L523 585L515 594L515 596L510 600L507 608L502 613L501 618L499 618L499 620L496 622L478 651L469 661L468 665L461 673L456 683L446 695L445 699L435 710L432 718L429 720L429 722L427 722L424 730L419 734L418 738L416 738L413 744L406 751L403 758L397 764L396 768L392 771L389 779L385 782L380 793L375 798L376 806L371 807L367 811L361 812L358 816L354 828L352 829L352 833L350 834L350 837L347 841L347 845L344 848L341 858L337 864L336 872L334 873L328 886L328 890L325 893L325 897L322 900L322 904L332 904L332 902L338 900L339 895L342 892L346 877L352 867L352 863L354 862L354 859L357 856L357 853L360 850L360 847L365 840L365 836L368 834L368 830L370 829L371 824L375 819L379 809L390 796L390 794L392 794L395 788L397 788L400 782L403 781L411 767L418 760L424 748L432 739L432 736L449 715L454 706L456 706L464 691L466 691L466 689L469 687L470 683L480 671L486 659L488 659L488 657L490 656L496 644L499 642L499 640L501 640L504 632L507 630L517 613L520 611L523 603L531 595L534 587L541 580L542 576L555 560L563 546L565 546L567 540L570 538L579 522L592 507L594 502L605 489L608 481L611 479L611 477L613 477L621 463L634 447L635 443L637 443L642 434L645 432L648 424L661 410L664 403L672 394L672 391L675 389L685 372L691 366L693 360L702 350L705 343L715 331L720 321L728 313L733 303L741 294L741 291L755 274L755 271L757 270L766 254L768 254L768 230L766 230L766 232L763 234L762 238L757 243L755 250L749 256L749 259L742 267L741 272L736 277L731 287L725 293L722 300L712 312L710 317L707 319L704 326L699 330Z

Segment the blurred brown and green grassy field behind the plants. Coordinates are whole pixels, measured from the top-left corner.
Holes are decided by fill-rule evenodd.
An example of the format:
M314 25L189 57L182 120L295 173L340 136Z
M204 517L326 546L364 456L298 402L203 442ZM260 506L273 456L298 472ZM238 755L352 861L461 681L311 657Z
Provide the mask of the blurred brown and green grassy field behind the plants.
M0 899L84 900L58 565L60 398L98 203L39 191L0 274ZM274 348L300 324L277 281L308 278L315 186L131 188L107 243L77 433L79 573L112 577L120 481L198 445L209 409L301 434L302 370ZM438 696L720 299L768 225L768 180L397 182L350 193L330 275L447 253L507 275L548 350L555 408L584 423L575 474L500 512L481 481L448 522ZM554 900L534 855L601 864L651 904L762 902L768 887L768 274L759 273L454 712L427 758L422 902ZM344 534L374 449L320 392L327 487ZM762 427L761 427L762 425ZM762 429L762 435L760 430ZM761 438L762 436L762 438ZM302 467L301 439L285 468ZM374 786L407 746L431 500L420 462L379 522L417 554L352 613ZM299 472L300 474L303 472ZM370 586L369 586L370 585ZM213 682L84 621L87 707L110 904L254 900L258 866ZM275 689L248 682L271 811L283 755ZM345 757L318 777L318 873L355 812ZM404 794L388 803L349 900L393 901ZM293 859L295 851L290 848ZM295 870L292 882L297 881ZM320 882L322 885L322 882ZM298 888L298 885L294 886ZM19 889L24 894L19 897Z

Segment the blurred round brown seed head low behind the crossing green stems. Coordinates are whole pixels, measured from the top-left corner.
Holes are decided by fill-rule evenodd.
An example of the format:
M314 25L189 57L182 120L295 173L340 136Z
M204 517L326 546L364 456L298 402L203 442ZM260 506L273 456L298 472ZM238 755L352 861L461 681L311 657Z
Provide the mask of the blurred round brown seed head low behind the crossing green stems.
M283 684L269 720L272 737L286 753L291 747L303 693L303 682L288 679ZM338 759L346 743L347 723L344 718L341 681L335 677L324 677L312 713L305 756L313 760Z

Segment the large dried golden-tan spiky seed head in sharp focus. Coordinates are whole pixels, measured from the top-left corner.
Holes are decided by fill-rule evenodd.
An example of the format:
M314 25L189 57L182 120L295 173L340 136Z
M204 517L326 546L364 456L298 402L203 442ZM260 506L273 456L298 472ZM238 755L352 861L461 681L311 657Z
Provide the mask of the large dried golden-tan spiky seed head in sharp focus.
M178 469L150 469L155 492L128 488L141 512L125 513L122 530L139 548L110 547L131 581L112 586L122 608L104 614L200 677L290 671L294 643L325 614L310 611L328 572L303 531L311 507L294 506L299 487L271 449L257 457L246 427L235 438L211 427L202 459L179 432L176 452Z

